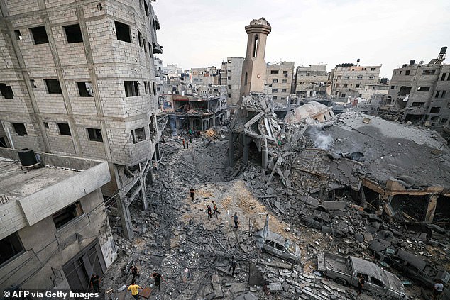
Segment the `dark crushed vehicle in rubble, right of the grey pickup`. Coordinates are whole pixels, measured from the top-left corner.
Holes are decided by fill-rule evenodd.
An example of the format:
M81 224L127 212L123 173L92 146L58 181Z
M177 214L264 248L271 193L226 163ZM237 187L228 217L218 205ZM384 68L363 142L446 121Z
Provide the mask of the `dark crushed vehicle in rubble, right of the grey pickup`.
M380 256L382 257L381 260L390 265L390 267L402 272L405 277L419 282L424 287L433 289L437 279L440 279L444 283L449 282L449 272L438 270L430 262L422 260L418 255L406 252L405 250L399 249L397 252L385 251L385 254Z

